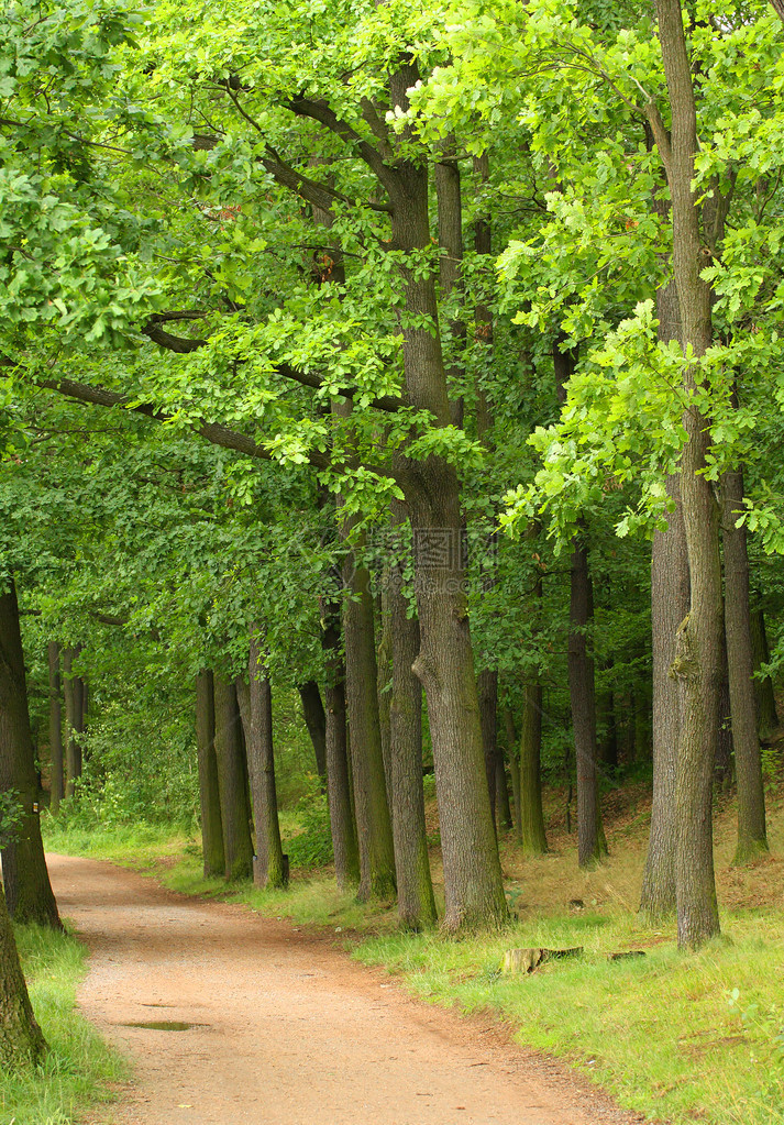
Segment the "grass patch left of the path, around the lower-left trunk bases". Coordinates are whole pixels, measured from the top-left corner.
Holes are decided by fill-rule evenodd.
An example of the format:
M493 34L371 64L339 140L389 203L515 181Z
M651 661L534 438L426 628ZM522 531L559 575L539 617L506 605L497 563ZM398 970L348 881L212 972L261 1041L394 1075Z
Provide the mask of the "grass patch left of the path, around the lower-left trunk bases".
M0 1073L0 1122L69 1125L88 1105L114 1096L112 1086L126 1077L125 1064L75 1010L84 947L39 926L20 926L16 934L48 1052L39 1066Z

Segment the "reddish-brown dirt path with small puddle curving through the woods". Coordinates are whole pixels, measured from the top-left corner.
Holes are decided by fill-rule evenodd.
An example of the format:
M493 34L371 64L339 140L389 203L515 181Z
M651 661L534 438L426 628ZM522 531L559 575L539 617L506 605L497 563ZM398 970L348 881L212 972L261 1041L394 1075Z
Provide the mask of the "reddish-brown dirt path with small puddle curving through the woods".
M121 1125L628 1125L555 1063L406 996L328 939L189 899L108 863L49 856L90 951L89 1019L135 1078ZM157 1020L184 1030L130 1027Z

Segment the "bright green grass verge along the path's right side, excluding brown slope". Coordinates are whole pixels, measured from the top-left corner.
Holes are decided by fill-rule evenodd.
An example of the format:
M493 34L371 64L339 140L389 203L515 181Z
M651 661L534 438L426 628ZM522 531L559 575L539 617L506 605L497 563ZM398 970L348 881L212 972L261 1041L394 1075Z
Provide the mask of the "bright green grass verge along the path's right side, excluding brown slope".
M62 849L73 852L67 843ZM112 845L105 836L93 837L89 854L128 862L133 850L129 840L115 837ZM678 954L674 928L647 928L618 898L456 942L398 933L394 909L340 896L328 873L297 875L288 891L265 892L205 880L193 843L183 849L170 837L157 858L147 843L134 865L182 893L328 927L353 956L386 968L418 997L493 1012L517 1028L519 1042L565 1059L630 1109L674 1125L784 1125L781 909L723 910L723 936L697 955ZM584 946L579 958L528 976L501 972L505 950L575 945ZM609 961L624 950L645 956Z

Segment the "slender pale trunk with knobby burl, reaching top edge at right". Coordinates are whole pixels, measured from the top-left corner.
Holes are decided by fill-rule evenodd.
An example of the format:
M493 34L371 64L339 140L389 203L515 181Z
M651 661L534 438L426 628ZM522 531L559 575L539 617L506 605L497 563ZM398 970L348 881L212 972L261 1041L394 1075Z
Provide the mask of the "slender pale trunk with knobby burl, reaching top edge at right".
M673 266L683 346L696 360L712 343L711 291L701 277L705 254L700 212L692 190L697 151L696 104L679 0L656 0L659 42L672 111L667 136L655 106L649 120L667 171L673 207ZM696 389L695 369L684 389ZM699 376L697 376L699 377ZM721 676L721 559L718 505L704 475L710 448L708 420L695 405L684 412L681 494L686 529L691 608L677 632L673 674L678 678L683 721L676 780L675 886L678 945L696 948L719 933L713 872L712 776Z

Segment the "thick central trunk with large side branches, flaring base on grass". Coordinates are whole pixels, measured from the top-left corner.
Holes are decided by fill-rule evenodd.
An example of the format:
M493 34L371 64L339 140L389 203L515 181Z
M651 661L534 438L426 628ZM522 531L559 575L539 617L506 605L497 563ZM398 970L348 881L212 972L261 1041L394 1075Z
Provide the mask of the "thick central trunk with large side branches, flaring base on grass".
M391 104L405 108L417 80L405 65L393 76ZM402 138L406 143L406 137ZM402 155L385 171L395 249L404 254L431 245L427 169ZM400 267L405 288L403 360L406 389L416 410L441 426L452 413L433 278ZM425 688L433 742L443 853L444 928L501 925L508 917L484 768L479 703L463 590L462 515L454 468L438 456L412 462L406 482L414 533L414 567L421 649L414 670Z

